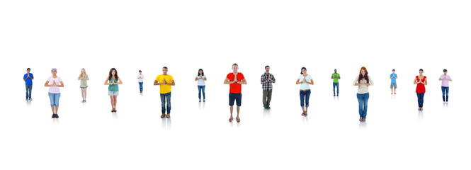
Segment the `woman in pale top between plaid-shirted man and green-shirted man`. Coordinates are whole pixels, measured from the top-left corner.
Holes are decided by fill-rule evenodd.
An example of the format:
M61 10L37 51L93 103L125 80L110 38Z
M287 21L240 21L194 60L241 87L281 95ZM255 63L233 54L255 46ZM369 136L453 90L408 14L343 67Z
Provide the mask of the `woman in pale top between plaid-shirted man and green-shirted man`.
M309 96L311 95L311 90L309 84L314 85L311 75L307 74L306 67L301 68L301 75L297 77L296 84L301 84L300 88L300 98L301 98L301 108L302 116L307 116L307 108L309 107ZM306 107L305 107L306 101Z

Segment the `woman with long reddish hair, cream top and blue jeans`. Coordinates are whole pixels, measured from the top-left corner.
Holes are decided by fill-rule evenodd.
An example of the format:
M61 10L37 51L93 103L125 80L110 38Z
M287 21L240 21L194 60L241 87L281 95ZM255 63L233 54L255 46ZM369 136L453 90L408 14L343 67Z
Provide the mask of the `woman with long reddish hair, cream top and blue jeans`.
M364 122L366 120L366 111L368 111L368 98L370 98L368 86L373 86L373 80L368 76L368 71L365 67L361 67L360 74L353 81L353 86L358 86L356 94L356 98L358 98L358 113L360 113L360 121Z

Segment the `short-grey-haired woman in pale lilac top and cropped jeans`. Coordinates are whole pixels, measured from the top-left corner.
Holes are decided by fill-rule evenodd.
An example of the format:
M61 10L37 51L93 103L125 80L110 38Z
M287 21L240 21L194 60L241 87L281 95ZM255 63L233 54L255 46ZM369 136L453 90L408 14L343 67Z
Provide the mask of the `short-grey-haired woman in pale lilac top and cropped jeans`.
M60 98L60 90L59 87L64 87L64 83L62 83L62 79L57 77L57 69L53 68L51 70L52 77L49 77L44 84L44 86L49 87L49 100L51 101L51 109L52 109L52 118L59 118L57 115L57 110L59 110L59 98Z

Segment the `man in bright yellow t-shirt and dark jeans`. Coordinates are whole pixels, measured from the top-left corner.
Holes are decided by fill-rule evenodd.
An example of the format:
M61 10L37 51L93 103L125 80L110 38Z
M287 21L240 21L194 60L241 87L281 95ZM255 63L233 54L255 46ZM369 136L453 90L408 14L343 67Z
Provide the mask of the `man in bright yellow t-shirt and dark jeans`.
M167 67L162 68L163 74L160 74L155 78L154 86L160 86L160 101L162 103L162 115L160 118L165 118L165 110L167 111L167 118L170 118L170 96L171 96L171 86L175 86L174 77L167 74L169 69ZM165 109L165 99L166 99L166 109Z

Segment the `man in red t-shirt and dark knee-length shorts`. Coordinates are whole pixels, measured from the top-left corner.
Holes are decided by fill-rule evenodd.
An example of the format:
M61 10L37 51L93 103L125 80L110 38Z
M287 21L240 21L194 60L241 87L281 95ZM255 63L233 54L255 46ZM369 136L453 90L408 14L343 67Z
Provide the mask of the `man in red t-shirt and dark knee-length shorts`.
M232 111L234 106L234 101L237 102L237 122L240 122L239 111L240 106L242 105L242 84L247 84L244 74L237 72L239 70L239 65L236 63L232 64L232 73L227 74L224 84L229 84L229 106L231 110L231 117L229 122L232 123Z

